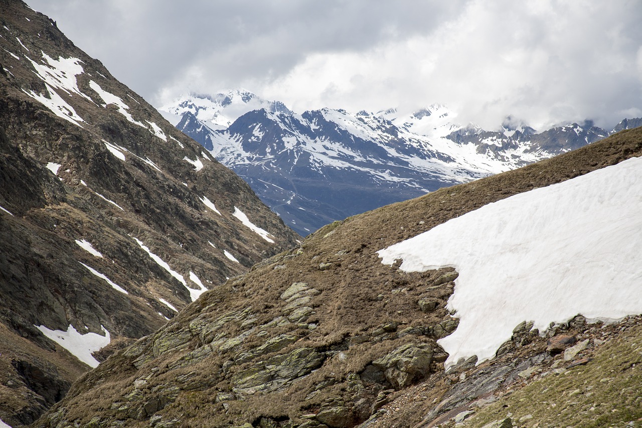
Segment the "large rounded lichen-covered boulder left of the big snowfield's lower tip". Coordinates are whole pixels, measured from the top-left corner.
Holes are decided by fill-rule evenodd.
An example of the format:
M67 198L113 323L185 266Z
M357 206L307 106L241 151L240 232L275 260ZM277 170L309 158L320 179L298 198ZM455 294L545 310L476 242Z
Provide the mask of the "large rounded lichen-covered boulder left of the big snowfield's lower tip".
M430 372L433 361L433 346L429 344L406 344L395 349L372 365L383 371L386 380L395 389L406 388Z

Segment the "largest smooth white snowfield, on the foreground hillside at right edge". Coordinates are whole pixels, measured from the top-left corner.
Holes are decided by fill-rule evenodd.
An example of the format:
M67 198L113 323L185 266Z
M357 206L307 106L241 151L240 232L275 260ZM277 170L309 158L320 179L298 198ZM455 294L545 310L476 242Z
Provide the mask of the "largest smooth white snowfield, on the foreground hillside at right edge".
M514 195L379 251L406 272L459 272L446 366L494 357L521 321L642 313L642 158Z

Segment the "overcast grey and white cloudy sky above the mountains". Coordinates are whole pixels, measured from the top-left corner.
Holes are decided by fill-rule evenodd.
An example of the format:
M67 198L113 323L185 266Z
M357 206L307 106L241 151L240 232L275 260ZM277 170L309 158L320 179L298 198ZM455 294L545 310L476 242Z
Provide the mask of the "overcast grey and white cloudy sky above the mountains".
M29 0L153 105L243 87L297 112L442 103L496 129L642 117L639 0Z

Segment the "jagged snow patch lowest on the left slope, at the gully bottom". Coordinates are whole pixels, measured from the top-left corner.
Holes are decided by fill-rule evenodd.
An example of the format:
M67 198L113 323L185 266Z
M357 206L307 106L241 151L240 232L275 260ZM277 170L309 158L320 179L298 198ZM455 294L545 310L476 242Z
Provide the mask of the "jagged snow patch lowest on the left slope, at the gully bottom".
M105 332L104 336L97 333L80 334L71 324L66 332L62 330L51 330L44 325L35 326L42 334L49 337L49 339L65 348L74 355L74 357L92 368L98 367L99 363L91 354L107 346L110 341L110 335L107 329L103 326L100 327L103 329L103 332Z

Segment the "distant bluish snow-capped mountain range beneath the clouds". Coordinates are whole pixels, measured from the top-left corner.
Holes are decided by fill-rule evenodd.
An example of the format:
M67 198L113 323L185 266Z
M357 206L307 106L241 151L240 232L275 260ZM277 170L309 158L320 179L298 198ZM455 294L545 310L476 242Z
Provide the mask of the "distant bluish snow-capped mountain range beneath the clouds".
M498 131L462 127L456 113L439 104L410 114L396 109L297 114L248 91L185 96L160 110L175 121L180 117L177 129L241 175L302 235L609 135L590 123L538 133L510 118Z

